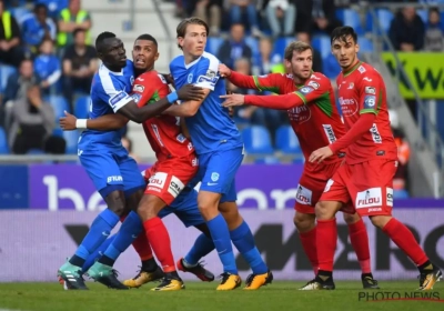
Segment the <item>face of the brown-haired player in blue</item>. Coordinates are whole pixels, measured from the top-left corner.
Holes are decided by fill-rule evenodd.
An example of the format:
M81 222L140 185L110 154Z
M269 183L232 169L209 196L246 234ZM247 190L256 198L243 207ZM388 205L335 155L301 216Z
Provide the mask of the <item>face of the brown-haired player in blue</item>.
M185 53L191 54L194 59L200 58L206 44L205 27L202 24L189 24L186 27L185 37L179 37L178 41Z

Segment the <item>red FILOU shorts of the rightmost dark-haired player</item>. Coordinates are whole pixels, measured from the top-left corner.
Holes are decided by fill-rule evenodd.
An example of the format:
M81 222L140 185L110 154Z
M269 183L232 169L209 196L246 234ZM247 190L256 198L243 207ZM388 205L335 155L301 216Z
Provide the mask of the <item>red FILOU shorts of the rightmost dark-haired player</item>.
M343 202L343 212L361 217L391 215L396 168L397 161L387 159L344 163L329 180L320 201Z

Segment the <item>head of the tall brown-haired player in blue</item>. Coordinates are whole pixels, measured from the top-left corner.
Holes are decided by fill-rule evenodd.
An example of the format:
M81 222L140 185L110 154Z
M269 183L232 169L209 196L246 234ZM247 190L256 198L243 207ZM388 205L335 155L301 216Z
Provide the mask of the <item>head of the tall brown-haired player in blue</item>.
M199 58L205 50L209 27L200 18L188 18L176 29L178 46L184 53Z

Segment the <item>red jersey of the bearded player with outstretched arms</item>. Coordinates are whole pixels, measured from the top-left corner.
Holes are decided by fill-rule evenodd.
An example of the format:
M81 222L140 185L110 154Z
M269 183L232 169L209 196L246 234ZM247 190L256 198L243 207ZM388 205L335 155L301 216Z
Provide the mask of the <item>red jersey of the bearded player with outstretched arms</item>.
M332 83L324 74L314 72L303 86L295 86L292 74L272 73L253 77L252 80L254 88L261 91L293 93L305 103L287 110L305 159L309 159L313 151L344 136L345 129L335 104ZM332 163L339 160L335 154L324 162Z

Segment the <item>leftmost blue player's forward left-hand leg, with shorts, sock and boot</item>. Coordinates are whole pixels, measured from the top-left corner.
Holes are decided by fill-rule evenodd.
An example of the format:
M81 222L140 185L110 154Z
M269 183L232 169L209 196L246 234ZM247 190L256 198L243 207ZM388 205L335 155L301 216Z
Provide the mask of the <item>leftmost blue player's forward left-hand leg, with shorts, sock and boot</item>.
M125 212L123 180L113 157L108 153L83 151L80 161L104 198L108 208L94 219L74 255L59 269L58 274L72 289L87 289L80 274L81 267L88 257L107 240L119 222L120 215Z

